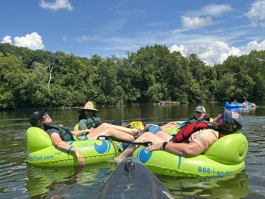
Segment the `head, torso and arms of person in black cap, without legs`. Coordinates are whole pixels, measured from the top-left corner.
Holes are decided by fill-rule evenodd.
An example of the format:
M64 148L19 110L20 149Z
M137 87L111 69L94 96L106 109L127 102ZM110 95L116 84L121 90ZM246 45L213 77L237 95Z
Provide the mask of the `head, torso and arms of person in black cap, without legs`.
M52 119L51 119L51 117L49 117L46 110L47 109L45 108L42 111L34 112L29 118L31 125L35 126L35 127L42 128L43 130L45 130L50 135L53 144L57 148L65 150L65 151L74 152L78 158L78 163L80 165L84 165L85 164L84 156L80 153L80 151L77 148L71 146L66 141L74 140L73 135L79 136L79 135L82 135L82 134L87 133L89 131L88 130L80 130L80 131L71 131L70 132L67 129L64 129L62 126L57 126L57 127L51 126L50 124L52 122ZM68 131L67 132L68 134L66 134L64 136L64 138L67 140L62 140L60 128L62 128L63 131Z

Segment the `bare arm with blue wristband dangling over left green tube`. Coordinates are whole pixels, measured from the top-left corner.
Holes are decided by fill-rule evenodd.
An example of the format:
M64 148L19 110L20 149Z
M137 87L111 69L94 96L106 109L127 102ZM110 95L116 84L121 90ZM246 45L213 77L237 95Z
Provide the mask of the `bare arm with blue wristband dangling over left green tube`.
M61 139L61 137L58 133L52 133L51 139L52 139L53 144L59 149L68 151L69 148L71 147L70 144L68 144L67 142L65 142ZM80 165L85 164L85 158L77 148L73 147L73 148L71 148L70 151L72 151L76 154L77 159L78 159L78 164L80 164Z

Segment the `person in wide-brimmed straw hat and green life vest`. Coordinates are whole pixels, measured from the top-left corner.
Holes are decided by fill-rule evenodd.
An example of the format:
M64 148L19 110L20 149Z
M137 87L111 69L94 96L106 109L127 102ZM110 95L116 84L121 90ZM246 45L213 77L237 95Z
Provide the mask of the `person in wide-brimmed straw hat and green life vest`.
M94 108L94 104L88 101L84 108L78 110L79 115L79 126L80 130L94 129L100 126L103 122L97 116L98 110ZM121 120L115 120L113 125L122 126Z

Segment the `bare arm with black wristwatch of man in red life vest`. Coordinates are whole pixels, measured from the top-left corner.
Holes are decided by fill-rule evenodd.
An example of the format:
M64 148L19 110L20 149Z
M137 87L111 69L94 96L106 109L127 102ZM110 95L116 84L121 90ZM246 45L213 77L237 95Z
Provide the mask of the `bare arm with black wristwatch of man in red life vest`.
M163 149L163 143L158 143L147 147L146 151L155 151ZM186 143L168 143L165 147L167 151L173 152L181 156L196 156L202 153L200 146L196 142Z

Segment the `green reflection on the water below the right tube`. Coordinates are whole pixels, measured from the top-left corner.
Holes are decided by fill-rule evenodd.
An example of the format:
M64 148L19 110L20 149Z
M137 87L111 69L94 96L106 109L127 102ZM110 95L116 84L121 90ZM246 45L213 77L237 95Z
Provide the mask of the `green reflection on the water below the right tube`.
M158 176L175 196L197 196L218 199L241 199L251 193L245 173L218 177L177 178Z

